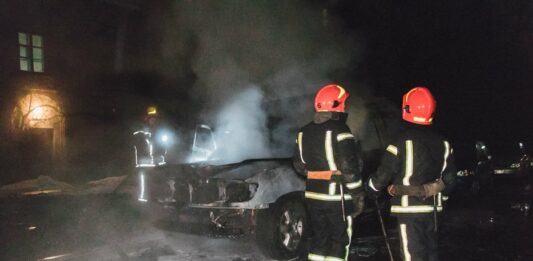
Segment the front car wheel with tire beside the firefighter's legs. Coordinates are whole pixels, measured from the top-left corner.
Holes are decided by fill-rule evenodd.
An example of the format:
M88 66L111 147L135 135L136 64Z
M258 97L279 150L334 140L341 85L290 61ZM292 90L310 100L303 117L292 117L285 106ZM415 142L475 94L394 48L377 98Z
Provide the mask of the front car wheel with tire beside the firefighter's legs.
M258 214L256 240L274 259L301 257L307 250L308 215L303 198L290 196Z

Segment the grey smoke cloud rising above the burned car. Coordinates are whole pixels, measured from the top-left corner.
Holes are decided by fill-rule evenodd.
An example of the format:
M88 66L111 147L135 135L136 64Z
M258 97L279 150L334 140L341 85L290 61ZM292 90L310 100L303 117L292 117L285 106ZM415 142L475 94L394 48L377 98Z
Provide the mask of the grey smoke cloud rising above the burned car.
M199 121L216 115L216 129L241 135L231 151L288 155L296 127L311 119L312 95L324 84L342 85L342 72L360 57L356 37L337 26L328 3L168 2L152 15L152 24L164 25L153 65L167 78L191 68L194 81L175 88L188 89L187 108Z

